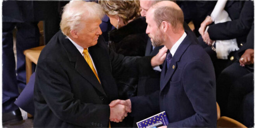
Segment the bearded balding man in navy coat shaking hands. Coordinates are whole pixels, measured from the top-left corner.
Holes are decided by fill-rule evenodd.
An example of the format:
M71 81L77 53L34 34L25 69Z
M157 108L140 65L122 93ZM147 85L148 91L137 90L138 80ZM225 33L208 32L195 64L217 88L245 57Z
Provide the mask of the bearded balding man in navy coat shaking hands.
M174 2L162 1L147 10L146 19L146 33L152 45L168 48L161 71L160 93L114 100L109 105L123 104L131 108L132 116L140 116L156 111L156 103L152 101L158 99L160 112L165 111L169 120L165 128L216 127L213 64L204 49L184 31L182 10Z

